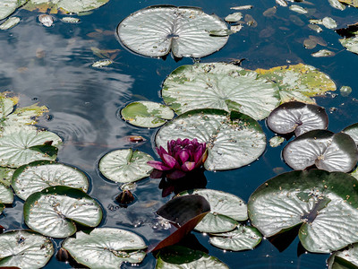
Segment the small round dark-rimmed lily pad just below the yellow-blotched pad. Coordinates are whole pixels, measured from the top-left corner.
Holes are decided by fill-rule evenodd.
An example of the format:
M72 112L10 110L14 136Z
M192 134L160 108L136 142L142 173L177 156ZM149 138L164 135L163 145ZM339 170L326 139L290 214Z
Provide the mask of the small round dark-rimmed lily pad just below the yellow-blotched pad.
M275 108L268 116L268 127L277 134L293 133L296 136L311 130L327 129L325 108L302 102L287 102Z

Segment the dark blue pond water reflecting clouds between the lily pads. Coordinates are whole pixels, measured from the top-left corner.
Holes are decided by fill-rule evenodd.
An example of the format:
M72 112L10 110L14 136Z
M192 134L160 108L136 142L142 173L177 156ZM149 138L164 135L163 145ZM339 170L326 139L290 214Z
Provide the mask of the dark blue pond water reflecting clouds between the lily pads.
M158 188L158 179L145 178L137 183L133 191L137 200L127 208L115 204L119 186L103 178L98 171L98 161L107 152L115 149L135 148L155 155L153 139L158 129L146 129L125 123L118 114L121 108L134 100L162 102L161 83L176 67L190 65L191 58L175 61L134 55L122 47L115 37L115 28L130 13L153 4L198 6L205 13L216 13L224 19L233 13L230 7L253 4L250 14L257 26L245 25L243 30L230 36L226 46L200 62L229 62L245 59L244 68L268 69L273 66L304 63L313 65L336 82L337 89L350 86L353 92L344 97L339 90L316 98L317 103L328 111L328 129L342 130L357 122L358 80L356 65L358 56L346 51L334 30L317 33L307 27L309 19L332 17L338 28L357 22L358 9L347 7L345 11L332 8L327 0L299 3L311 9L310 14L300 14L279 6L274 0L173 0L163 1L116 1L80 16L80 23L60 21L62 14L55 14L55 23L47 28L38 22L38 12L19 10L16 15L21 23L11 30L0 31L0 89L21 94L21 106L39 102L49 108L47 117L38 125L60 135L64 145L58 153L58 161L72 164L90 176L89 194L98 200L104 210L99 227L115 227L132 230L147 243L164 237L166 230L153 228L154 212L170 197L163 198ZM271 16L263 13L273 6L277 12ZM266 13L267 14L267 13ZM319 36L327 42L327 48L336 56L313 57L312 52L323 46L307 49L303 40L310 35ZM91 65L100 58L91 48L110 49L114 64L103 68ZM268 139L274 134L268 130L265 120L260 121ZM141 135L144 143L129 143L125 136ZM220 172L205 172L207 188L238 195L247 202L251 193L268 178L291 170L281 159L283 145L267 147L258 161L241 169ZM7 230L27 229L22 217L23 202L15 198L12 208L6 208L0 216L0 224ZM298 239L279 252L268 239L263 239L251 251L223 251L209 244L209 237L198 232L192 234L200 244L230 268L325 268L328 255L303 253L297 256ZM55 240L60 247L61 240ZM138 268L153 268L155 258L151 254L136 265ZM124 267L131 267L124 265ZM46 268L71 268L53 257Z

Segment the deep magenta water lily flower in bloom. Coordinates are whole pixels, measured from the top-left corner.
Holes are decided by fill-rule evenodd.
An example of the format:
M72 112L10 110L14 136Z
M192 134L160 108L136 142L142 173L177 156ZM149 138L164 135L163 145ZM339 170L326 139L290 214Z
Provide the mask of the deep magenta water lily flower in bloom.
M168 141L167 152L162 146L157 152L162 161L148 161L148 164L166 172L166 178L170 179L183 178L193 169L200 168L208 157L206 143L199 143L196 138Z

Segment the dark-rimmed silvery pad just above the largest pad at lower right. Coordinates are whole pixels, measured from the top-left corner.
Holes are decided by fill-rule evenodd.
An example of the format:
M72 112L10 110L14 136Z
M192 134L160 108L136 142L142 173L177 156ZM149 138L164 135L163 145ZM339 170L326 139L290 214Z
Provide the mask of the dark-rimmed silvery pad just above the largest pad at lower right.
M357 146L348 134L326 130L313 130L298 136L286 145L282 155L296 170L315 165L318 169L349 172L358 161Z

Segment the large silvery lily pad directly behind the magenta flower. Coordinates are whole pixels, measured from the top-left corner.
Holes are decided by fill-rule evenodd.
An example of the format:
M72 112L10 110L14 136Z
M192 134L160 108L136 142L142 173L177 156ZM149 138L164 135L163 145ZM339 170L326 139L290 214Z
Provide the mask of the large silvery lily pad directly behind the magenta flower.
M167 141L178 138L207 144L204 167L208 170L240 168L256 161L266 148L266 136L257 121L220 109L191 110L175 117L159 129L156 144L166 149Z

